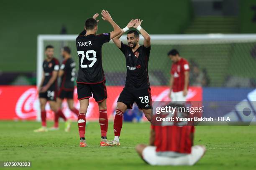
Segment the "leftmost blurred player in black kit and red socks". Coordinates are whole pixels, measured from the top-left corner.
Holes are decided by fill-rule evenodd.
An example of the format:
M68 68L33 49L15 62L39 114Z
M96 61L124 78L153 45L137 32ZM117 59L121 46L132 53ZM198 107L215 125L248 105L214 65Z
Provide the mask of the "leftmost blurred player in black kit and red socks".
M57 95L57 76L59 71L59 61L54 58L54 47L52 45L47 45L45 48L46 59L43 62L43 77L39 86L39 100L41 108L41 121L42 127L34 130L34 132L46 132L46 110L45 106L47 101L49 101L51 110L54 111L55 115L61 117L64 116L63 112L58 109L56 103Z

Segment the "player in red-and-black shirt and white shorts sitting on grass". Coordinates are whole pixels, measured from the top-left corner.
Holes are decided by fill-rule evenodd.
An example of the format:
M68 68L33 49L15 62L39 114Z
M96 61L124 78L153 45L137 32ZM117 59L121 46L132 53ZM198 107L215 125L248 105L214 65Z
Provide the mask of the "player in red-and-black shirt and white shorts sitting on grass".
M175 103L171 105L177 106ZM177 117L177 114L169 113L168 116L176 115ZM179 117L184 118L184 115L187 114L179 113ZM157 122L156 117L153 119L149 145L136 146L138 154L146 163L150 165L194 165L205 154L205 146L193 146L195 127L188 125L187 121Z

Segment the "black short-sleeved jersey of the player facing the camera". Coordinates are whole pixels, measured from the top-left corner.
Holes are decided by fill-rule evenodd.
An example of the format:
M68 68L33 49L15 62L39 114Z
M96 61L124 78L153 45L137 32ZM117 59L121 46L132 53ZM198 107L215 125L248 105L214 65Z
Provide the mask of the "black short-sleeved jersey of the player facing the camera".
M126 60L127 73L125 87L130 89L149 88L148 60L151 46L146 48L142 45L133 52L128 45L122 42L120 50L125 55Z

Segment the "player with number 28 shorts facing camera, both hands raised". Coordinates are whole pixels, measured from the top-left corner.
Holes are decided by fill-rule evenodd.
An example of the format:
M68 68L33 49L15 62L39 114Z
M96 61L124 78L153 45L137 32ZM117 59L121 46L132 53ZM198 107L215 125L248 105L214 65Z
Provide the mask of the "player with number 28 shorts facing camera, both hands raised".
M125 87L121 92L114 119L115 138L110 146L120 145L119 137L123 125L123 113L126 109L132 109L133 103L136 102L139 109L142 109L148 121L152 119L152 100L150 85L148 80L148 60L151 49L150 36L141 28L143 20L131 20L128 25L123 28L120 35L113 38L115 45L123 52L126 60L126 81ZM143 45L139 45L139 33L131 30L127 33L128 45L123 44L119 40L124 32L130 28L136 28L144 37Z

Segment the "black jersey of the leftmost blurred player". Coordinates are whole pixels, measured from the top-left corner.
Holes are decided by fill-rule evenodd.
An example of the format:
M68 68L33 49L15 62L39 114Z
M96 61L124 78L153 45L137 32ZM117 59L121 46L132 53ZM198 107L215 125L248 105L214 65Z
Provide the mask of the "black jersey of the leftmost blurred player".
M52 58L51 61L44 60L43 62L43 69L44 69L44 82L43 86L46 85L49 80L51 79L53 71L59 71L59 61L56 58ZM50 90L56 90L57 88L57 79L54 83L52 83Z

